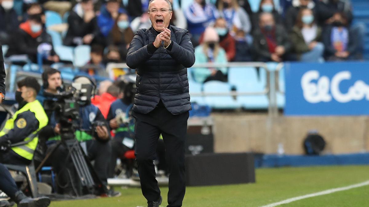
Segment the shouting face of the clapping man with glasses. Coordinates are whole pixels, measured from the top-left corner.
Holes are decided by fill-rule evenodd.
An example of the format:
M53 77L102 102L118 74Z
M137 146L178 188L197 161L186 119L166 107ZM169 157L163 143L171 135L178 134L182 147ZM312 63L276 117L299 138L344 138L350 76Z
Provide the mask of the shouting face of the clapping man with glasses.
M149 17L152 27L156 31L163 31L163 28L169 26L172 18L172 11L169 10L169 4L165 0L155 0L149 5Z

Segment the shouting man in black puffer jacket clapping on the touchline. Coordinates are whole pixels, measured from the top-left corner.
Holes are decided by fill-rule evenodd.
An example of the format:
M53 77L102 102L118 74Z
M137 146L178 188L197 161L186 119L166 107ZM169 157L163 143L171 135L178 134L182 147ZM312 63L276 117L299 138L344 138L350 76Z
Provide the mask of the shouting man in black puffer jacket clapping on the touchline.
M128 48L127 65L137 69L133 113L137 168L148 206L161 203L153 161L160 134L169 164L168 206L182 206L185 192L184 141L190 95L187 67L195 62L187 30L169 25L169 0L151 0L152 27L140 29Z

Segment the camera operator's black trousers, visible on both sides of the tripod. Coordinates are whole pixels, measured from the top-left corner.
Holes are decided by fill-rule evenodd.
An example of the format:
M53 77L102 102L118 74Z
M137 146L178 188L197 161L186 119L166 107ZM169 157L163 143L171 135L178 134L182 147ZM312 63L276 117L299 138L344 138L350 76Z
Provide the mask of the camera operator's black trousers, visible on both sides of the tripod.
M94 160L94 170L103 183L107 185L108 165L111 157L110 141L100 142L97 140L86 141L87 156L90 160ZM54 146L49 147L51 150ZM73 189L70 182L76 186L78 183L78 175L72 162L72 158L68 156L69 151L64 145L59 145L51 157L52 166L56 173L58 173L58 193L62 194L81 194L80 190ZM68 159L67 159L68 158ZM70 185L69 185L70 184Z

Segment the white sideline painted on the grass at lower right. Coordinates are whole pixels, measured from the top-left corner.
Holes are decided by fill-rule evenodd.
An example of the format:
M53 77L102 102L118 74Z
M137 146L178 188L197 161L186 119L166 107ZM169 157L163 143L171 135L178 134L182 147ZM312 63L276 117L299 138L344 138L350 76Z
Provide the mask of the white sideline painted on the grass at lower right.
M346 186L346 187L337 187L337 188L332 188L332 189L328 189L328 190L323 190L323 191L317 192L317 193L306 194L304 196L293 197L293 198L290 198L290 199L287 199L287 200L279 201L277 203L271 203L271 204L268 204L268 205L262 206L262 207L279 206L279 205L282 205L282 204L291 203L293 201L297 201L297 200L301 200L301 199L307 199L307 198L310 198L310 197L331 194L331 193L335 193L335 192L338 192L338 191L349 190L349 189L353 189L353 188L356 188L356 187L362 187L362 186L366 186L366 185L369 185L369 180L367 180L365 182L362 182L362 183L349 185L349 186Z

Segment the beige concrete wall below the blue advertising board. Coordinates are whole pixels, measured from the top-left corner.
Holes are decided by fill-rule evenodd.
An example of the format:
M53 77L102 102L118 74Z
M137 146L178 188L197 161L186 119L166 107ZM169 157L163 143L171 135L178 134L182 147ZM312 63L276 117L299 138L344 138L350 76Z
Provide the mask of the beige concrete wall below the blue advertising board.
M213 113L214 152L303 154L309 130L318 130L327 142L324 153L369 151L368 116L285 117L266 114Z

